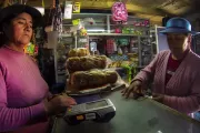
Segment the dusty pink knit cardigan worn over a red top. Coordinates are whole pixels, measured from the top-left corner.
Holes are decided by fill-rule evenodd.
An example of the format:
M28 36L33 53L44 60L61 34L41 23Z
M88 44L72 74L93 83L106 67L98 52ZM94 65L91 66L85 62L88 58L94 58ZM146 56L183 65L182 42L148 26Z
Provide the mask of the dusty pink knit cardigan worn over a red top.
M153 92L164 94L163 104L187 114L196 112L200 109L200 57L189 51L164 85L169 55L170 51L160 52L133 80L153 80Z

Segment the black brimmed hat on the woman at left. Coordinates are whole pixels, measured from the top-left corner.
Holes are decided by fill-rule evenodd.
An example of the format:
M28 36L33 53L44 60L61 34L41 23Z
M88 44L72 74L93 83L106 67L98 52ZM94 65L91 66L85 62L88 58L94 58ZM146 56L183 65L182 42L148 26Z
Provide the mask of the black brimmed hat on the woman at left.
M12 4L0 10L0 31L2 29L1 28L2 22L7 18L13 14L22 13L22 12L27 12L32 17L34 27L39 27L43 24L42 14L40 13L38 9L30 6L26 6L26 4Z

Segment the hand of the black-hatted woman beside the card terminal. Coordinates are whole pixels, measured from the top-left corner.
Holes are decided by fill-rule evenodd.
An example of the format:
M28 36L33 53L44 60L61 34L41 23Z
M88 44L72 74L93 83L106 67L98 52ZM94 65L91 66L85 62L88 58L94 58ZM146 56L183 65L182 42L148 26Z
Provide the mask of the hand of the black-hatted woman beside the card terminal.
M77 104L74 99L67 94L54 95L49 100L44 100L46 111L49 115L58 114L64 111L68 106Z

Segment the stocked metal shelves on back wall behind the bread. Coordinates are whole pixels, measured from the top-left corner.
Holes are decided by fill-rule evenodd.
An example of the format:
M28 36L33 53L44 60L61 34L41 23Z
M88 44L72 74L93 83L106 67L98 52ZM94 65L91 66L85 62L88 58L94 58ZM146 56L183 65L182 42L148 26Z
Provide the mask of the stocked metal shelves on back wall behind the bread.
M72 20L92 18L94 24L84 24L88 37L81 39L82 37L69 34L69 29L72 27ZM63 34L61 40L58 42L54 50L54 68L57 83L66 82L67 73L63 71L64 60L67 59L68 49L90 47L96 43L98 54L106 54L112 61L129 61L136 63L136 68L144 68L152 58L152 50L150 43L150 28L149 25L134 25L137 22L142 23L142 21L149 21L136 17L129 17L127 24L114 24L111 21L110 14L73 14L72 20L63 21ZM69 40L67 42L67 40ZM88 40L88 42L83 42ZM116 44L114 50L109 51L112 44ZM61 47L62 45L62 47ZM68 47L63 47L68 45ZM118 49L121 49L121 54L119 54ZM113 49L113 48L111 48ZM91 49L90 49L91 50ZM91 51L90 51L91 52Z

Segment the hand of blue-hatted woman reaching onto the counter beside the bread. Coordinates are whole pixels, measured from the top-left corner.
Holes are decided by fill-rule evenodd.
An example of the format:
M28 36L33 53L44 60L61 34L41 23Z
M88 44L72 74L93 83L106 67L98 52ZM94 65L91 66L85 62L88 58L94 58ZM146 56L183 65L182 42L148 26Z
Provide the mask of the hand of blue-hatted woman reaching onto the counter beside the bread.
M130 93L134 94L142 94L142 82L141 81L133 81L127 89L122 90L122 95L129 98Z

